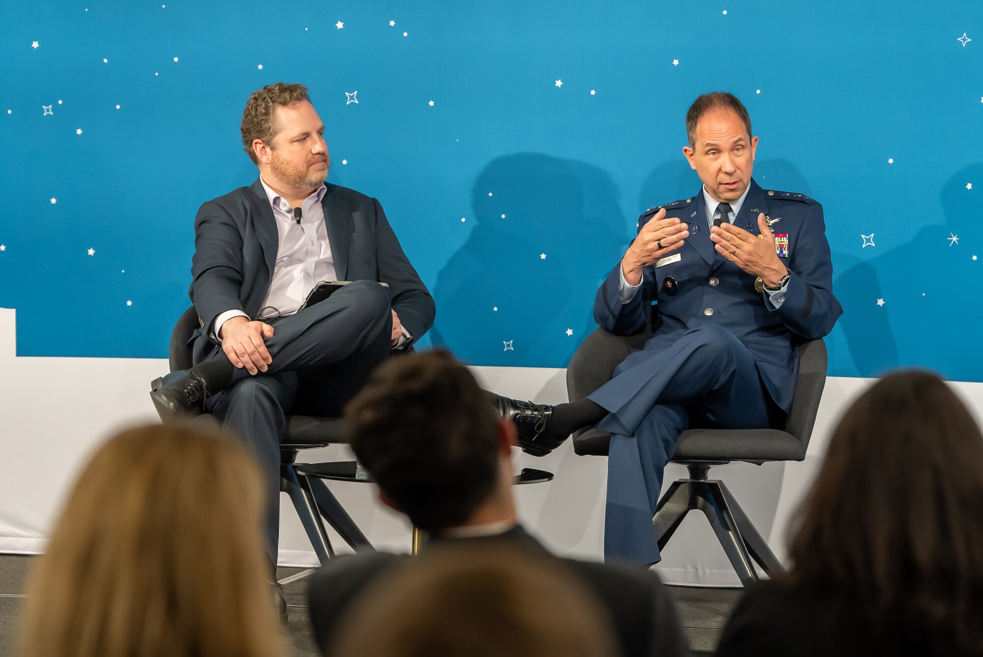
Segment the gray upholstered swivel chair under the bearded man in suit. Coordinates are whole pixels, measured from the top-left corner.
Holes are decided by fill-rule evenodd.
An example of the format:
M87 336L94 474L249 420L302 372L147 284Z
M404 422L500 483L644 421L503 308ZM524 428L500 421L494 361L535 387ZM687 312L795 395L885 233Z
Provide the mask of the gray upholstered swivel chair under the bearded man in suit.
M198 328L198 314L192 306L184 312L171 332L168 364L171 372L187 370L192 366L191 347L188 340ZM212 416L203 414L195 418L196 423L217 424ZM287 417L287 435L280 442L280 491L290 496L297 515L304 525L311 545L321 564L334 557L334 550L324 528L323 520L334 528L338 535L353 549L364 552L373 550L372 544L359 529L351 516L342 508L337 498L327 488L324 480L310 476L304 471L308 465L334 465L351 476L347 481L356 481L355 461L336 463L307 464L297 463L297 453L301 449L324 448L328 445L344 443L341 434L340 418L309 417L290 415ZM336 477L342 479L342 477ZM323 520L322 520L323 518Z

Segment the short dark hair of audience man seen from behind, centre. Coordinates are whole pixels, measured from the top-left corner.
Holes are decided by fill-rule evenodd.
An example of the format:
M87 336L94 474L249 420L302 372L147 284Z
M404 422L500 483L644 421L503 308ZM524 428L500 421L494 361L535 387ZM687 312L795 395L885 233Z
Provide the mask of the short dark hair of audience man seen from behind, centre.
M497 429L487 393L444 351L393 358L346 405L356 456L413 524L461 524L492 493Z

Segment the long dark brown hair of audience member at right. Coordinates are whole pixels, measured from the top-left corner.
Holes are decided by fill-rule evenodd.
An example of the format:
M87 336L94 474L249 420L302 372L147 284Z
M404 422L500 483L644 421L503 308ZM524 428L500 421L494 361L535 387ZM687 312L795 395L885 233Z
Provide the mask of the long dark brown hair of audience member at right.
M920 654L981 654L981 509L983 436L966 407L932 374L887 376L834 432L788 581L848 600Z

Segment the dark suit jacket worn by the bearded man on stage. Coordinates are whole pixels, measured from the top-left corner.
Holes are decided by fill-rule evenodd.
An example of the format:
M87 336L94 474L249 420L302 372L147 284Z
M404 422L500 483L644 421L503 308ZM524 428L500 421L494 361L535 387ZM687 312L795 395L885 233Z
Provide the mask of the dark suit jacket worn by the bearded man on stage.
M388 283L392 309L413 339L419 339L434 324L434 299L407 260L378 201L328 183L321 206L337 279ZM259 179L198 210L189 290L200 325L191 338L195 363L218 348L213 325L220 314L242 310L257 317L278 244L276 219Z

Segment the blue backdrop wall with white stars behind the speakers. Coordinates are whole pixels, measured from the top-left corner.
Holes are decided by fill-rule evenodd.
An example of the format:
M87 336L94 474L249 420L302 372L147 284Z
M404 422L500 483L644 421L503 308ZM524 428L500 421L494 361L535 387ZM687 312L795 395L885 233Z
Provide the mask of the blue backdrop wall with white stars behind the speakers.
M563 367L639 212L699 189L689 102L730 90L758 182L826 209L831 374L983 381L971 0L7 2L0 72L20 355L166 355L195 212L256 179L242 109L287 81L327 126L329 180L380 200L434 293L425 343Z

